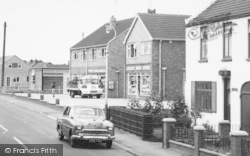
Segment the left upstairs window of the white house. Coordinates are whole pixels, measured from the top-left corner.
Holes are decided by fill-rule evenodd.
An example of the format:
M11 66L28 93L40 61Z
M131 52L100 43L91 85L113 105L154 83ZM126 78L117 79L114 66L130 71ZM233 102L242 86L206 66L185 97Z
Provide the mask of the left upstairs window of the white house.
M200 54L201 61L207 60L207 32L208 32L208 27L201 28L201 54Z

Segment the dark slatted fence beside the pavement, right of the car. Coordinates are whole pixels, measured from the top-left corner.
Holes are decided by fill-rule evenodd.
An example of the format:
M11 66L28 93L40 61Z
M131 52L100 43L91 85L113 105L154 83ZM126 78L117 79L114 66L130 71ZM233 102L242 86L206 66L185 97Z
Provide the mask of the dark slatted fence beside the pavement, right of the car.
M142 136L143 139L150 138L153 134L153 116L124 107L109 107L110 117L116 127Z

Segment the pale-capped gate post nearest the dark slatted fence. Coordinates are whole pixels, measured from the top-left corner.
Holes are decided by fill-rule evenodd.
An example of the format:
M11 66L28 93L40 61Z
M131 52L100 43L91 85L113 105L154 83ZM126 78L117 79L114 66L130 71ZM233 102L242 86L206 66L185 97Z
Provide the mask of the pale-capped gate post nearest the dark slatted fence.
M174 118L162 119L162 148L169 148L169 140L175 138L175 123Z

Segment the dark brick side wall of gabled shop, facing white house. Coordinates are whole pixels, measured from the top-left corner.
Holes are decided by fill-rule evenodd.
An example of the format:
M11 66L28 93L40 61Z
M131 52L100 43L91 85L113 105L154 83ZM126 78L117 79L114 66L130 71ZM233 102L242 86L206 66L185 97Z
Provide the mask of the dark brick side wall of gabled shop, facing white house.
M159 91L159 42L152 46L152 90ZM173 100L177 94L183 95L183 68L185 68L185 42L162 41L162 67L167 67L165 77L165 97ZM163 92L162 71L162 92ZM164 96L164 95L163 95Z

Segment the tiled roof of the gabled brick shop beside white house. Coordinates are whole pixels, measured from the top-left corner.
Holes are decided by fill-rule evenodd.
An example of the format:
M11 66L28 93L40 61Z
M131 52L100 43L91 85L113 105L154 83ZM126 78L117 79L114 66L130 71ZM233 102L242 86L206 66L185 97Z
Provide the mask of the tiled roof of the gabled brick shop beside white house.
M185 19L189 17L189 15L147 13L138 13L136 16L136 18L139 18L142 21L152 39L171 40L185 40ZM132 31L134 24L135 22L131 26L130 32Z

